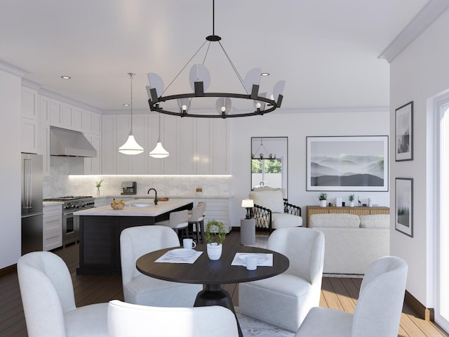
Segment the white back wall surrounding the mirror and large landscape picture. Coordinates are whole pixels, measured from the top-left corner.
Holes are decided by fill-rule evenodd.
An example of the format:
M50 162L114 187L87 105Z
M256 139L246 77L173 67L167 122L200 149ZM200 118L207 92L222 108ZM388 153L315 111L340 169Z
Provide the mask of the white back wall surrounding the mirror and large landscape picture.
M288 200L302 208L318 205L319 192L306 191L307 136L385 136L389 134L389 112L272 112L261 117L231 119L231 221L238 227L245 215L241 199L250 191L251 137L288 137ZM328 192L328 201L342 197L348 202L350 192ZM363 203L389 206L389 192L356 192ZM305 221L305 218L304 218Z

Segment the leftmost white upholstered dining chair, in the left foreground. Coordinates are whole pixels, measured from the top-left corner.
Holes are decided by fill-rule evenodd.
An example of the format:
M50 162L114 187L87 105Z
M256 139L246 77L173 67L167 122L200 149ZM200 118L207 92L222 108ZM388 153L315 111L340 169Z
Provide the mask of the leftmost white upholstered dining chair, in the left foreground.
M72 277L59 256L34 251L17 273L29 337L107 337L107 303L76 308Z

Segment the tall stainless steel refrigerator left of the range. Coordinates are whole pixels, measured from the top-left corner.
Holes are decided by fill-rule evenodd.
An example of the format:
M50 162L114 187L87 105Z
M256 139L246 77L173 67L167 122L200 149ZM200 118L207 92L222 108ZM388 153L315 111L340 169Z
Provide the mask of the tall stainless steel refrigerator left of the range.
M42 156L22 153L22 255L43 249Z

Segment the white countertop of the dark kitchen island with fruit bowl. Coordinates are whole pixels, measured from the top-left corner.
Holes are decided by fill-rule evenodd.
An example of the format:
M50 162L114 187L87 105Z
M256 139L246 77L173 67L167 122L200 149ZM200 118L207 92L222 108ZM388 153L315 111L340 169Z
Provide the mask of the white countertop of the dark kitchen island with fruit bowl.
M178 207L193 203L194 199L169 199L168 201L159 201L154 204L153 199L136 199L126 202L123 209L112 209L111 205L95 207L93 209L84 209L76 211L74 216L159 216L163 213L173 211ZM132 204L148 204L144 207L131 206Z

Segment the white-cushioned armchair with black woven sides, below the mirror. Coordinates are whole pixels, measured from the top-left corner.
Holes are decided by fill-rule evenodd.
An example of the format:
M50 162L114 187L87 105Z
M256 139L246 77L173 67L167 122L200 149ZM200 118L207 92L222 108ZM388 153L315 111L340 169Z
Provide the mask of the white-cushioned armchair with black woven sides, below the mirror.
M289 204L281 189L253 190L249 198L254 201L253 218L257 228L271 233L278 228L302 226L301 208Z

